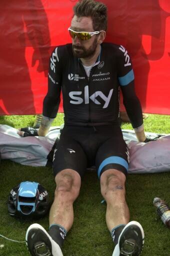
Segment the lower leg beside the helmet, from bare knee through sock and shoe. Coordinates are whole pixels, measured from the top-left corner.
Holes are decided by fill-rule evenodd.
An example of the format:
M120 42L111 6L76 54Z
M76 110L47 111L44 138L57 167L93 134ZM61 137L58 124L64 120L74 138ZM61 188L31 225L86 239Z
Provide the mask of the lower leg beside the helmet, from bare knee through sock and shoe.
M62 256L61 245L73 223L73 202L79 194L81 178L72 169L61 170L55 176L56 189L49 213L49 234L39 224L26 232L26 242L32 256Z

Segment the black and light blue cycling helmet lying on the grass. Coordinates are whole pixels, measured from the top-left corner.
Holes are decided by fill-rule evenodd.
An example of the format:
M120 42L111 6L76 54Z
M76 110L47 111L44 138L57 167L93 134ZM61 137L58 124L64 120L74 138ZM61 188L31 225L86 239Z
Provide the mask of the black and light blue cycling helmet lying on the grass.
M7 209L10 215L16 217L42 217L49 209L48 193L37 182L20 182L9 193Z

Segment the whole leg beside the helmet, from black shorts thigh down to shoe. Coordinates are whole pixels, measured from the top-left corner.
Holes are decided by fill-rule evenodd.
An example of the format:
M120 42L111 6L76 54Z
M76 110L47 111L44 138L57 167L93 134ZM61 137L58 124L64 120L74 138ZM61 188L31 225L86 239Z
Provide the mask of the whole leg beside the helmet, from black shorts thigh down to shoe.
M38 224L26 232L32 256L62 256L60 247L73 222L73 202L79 194L81 178L86 170L86 155L72 138L74 128L64 127L53 154L56 189L49 213L49 232Z

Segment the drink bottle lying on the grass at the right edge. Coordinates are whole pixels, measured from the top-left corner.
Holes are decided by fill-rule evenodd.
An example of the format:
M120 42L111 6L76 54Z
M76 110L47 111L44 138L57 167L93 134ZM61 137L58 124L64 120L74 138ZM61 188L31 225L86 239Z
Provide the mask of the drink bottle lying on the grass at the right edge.
M170 208L164 200L159 197L153 199L153 205L157 208L157 214L161 217L162 222L170 228Z

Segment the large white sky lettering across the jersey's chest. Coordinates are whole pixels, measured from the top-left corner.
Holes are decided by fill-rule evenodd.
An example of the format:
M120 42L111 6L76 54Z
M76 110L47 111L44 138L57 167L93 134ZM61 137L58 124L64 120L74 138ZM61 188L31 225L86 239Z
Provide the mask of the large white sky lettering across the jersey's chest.
M70 91L69 96L73 100L70 100L69 102L71 104L81 104L84 101L85 104L89 104L89 99L91 99L95 104L99 105L101 103L96 99L96 97L99 96L100 98L102 98L105 101L102 108L106 108L109 104L112 92L113 92L113 89L110 89L108 96L105 96L102 93L102 91L96 91L91 96L89 96L88 85L86 85L84 87L84 100L82 97L76 96L76 95L81 95L82 91Z

